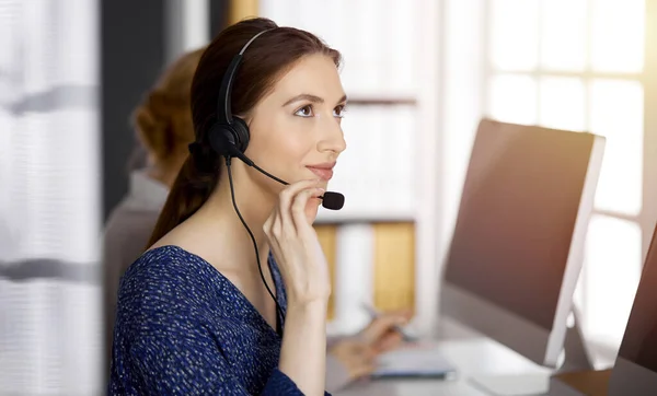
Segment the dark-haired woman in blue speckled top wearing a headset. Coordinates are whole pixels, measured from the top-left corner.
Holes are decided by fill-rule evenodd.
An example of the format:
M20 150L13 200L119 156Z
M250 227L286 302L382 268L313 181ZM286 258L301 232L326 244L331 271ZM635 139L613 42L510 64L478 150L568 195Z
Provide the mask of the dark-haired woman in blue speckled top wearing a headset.
M229 101L249 125L247 144L237 143L289 186L237 160L229 173L211 143L223 74L256 35ZM232 25L208 46L192 86L193 154L152 246L120 283L112 394L323 394L331 290L311 224L346 147L338 65L318 37L265 19ZM400 321L361 335L385 348Z

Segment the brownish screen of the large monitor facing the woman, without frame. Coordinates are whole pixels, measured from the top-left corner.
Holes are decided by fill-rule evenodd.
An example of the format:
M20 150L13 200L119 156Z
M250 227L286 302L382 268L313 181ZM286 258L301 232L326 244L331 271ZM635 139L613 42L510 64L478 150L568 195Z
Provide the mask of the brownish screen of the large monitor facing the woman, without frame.
M445 279L551 329L593 140L483 120Z

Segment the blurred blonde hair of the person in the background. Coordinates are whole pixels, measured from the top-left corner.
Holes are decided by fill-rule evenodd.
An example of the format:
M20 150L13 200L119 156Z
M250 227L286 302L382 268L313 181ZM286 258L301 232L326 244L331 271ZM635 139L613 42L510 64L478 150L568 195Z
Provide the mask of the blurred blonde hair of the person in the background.
M170 65L132 113L139 142L159 161L183 153L194 141L189 95L204 49L186 53Z

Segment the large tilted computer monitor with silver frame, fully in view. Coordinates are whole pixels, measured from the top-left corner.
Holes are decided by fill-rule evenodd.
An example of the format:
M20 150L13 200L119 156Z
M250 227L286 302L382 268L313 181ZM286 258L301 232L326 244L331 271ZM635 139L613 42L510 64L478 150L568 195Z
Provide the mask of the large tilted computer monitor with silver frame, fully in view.
M442 315L557 366L604 142L480 123L445 263ZM549 377L537 386L546 391Z

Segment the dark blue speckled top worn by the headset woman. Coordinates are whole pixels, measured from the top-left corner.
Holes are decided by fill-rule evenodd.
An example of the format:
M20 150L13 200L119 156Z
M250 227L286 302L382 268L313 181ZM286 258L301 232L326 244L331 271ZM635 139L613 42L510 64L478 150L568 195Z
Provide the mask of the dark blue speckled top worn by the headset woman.
M272 256L268 265L285 315ZM117 304L110 395L302 395L278 370L284 317L272 328L232 282L181 247L146 252L122 278Z

